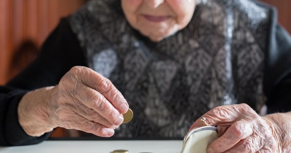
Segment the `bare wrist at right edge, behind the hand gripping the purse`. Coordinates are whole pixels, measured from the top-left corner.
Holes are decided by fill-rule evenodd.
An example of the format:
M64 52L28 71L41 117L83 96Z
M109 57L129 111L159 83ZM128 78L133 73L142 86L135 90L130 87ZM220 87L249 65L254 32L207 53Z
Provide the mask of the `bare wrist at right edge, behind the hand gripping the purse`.
M276 113L263 117L271 122L273 134L278 140L280 152L291 151L291 112Z

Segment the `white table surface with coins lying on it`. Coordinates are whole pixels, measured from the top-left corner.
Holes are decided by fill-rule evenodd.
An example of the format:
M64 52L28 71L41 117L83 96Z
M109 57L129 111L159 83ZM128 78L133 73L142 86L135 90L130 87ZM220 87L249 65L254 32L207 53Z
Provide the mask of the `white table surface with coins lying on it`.
M0 147L0 152L112 153L115 149L126 149L130 153L180 153L182 144L182 140L44 141L36 145Z

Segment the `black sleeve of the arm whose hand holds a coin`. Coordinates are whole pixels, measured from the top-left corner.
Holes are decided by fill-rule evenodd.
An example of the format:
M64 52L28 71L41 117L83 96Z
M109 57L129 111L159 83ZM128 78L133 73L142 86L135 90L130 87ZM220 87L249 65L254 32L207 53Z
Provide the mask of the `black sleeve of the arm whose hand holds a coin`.
M28 91L57 85L61 77L73 66L85 64L84 52L67 19L44 42L37 59L6 86L0 87L0 145L29 145L45 140L31 137L23 131L17 115L20 99Z

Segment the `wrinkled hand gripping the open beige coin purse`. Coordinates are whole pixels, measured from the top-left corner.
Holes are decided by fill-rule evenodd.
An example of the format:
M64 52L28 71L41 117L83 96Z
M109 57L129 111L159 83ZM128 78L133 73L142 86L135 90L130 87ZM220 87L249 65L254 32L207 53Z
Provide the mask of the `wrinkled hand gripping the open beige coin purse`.
M207 152L279 152L276 124L260 117L246 104L216 107L202 117L217 126L219 138L207 147ZM199 118L191 129L204 126Z

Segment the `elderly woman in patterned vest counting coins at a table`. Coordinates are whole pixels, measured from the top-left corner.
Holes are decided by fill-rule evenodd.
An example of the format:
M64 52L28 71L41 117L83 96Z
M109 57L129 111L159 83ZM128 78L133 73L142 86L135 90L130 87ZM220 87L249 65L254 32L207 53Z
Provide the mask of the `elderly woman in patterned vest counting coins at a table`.
M291 109L290 56L276 12L254 1L90 1L1 88L0 142L38 143L58 126L183 138L204 116L220 134L208 152L289 152L291 114L271 113Z

